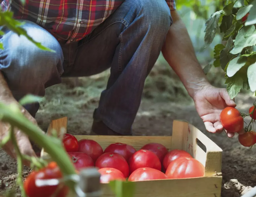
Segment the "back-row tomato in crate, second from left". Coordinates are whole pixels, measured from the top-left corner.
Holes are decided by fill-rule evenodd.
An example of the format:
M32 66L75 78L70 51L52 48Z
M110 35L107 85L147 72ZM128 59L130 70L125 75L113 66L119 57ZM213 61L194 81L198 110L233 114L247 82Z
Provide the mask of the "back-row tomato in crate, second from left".
M90 139L81 139L78 141L78 152L84 152L92 157L95 162L103 154L103 149L98 142Z

